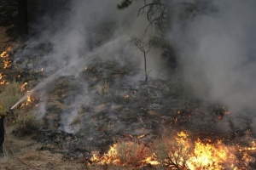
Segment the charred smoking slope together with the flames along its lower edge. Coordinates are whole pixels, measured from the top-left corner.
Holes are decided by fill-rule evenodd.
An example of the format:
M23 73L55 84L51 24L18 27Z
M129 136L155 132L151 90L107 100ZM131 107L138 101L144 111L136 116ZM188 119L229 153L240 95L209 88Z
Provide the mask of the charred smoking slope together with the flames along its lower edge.
M56 78L38 103L43 123L33 139L42 150L55 152L48 145L57 144L63 159L83 157L91 168L255 167L247 120L236 124L227 107L185 95L175 76L127 81L136 76L135 69L108 61Z

